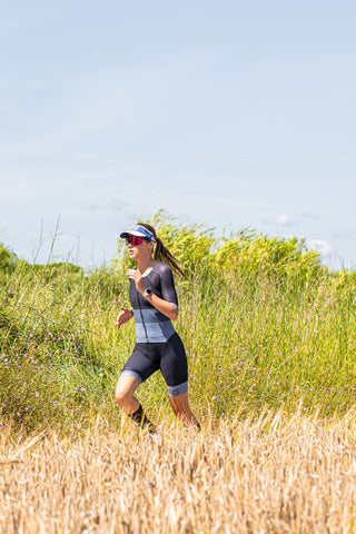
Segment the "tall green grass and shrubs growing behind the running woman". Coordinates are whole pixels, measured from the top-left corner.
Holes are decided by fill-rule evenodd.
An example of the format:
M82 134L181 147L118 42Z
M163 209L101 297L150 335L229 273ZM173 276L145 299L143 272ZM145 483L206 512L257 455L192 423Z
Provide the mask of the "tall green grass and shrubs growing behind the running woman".
M329 271L297 239L217 238L162 212L151 222L187 274L176 279L176 327L202 424L266 408L332 417L354 406L355 273ZM118 424L113 389L135 325L113 325L129 304L130 265L121 244L89 275L0 249L0 425L69 431L98 413ZM160 374L138 395L154 417L169 411Z

